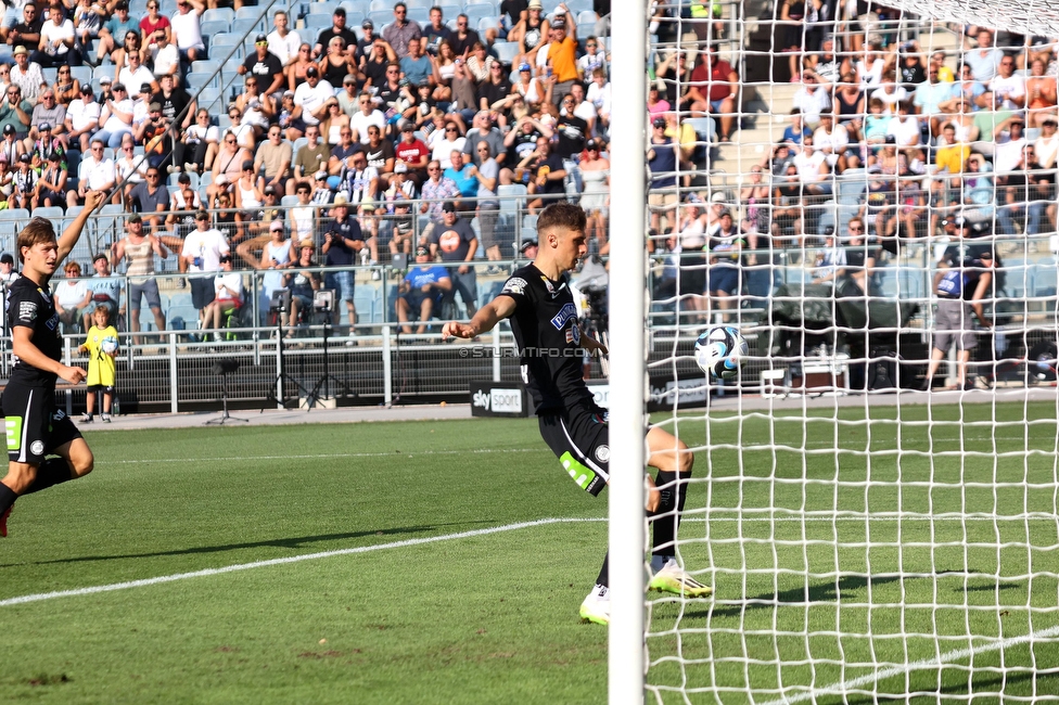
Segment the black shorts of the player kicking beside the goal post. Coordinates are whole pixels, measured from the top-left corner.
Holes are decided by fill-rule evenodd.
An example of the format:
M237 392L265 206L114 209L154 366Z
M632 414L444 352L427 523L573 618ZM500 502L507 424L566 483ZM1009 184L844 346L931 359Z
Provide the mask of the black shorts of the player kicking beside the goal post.
M607 411L594 403L538 416L540 436L577 486L592 497L610 479Z

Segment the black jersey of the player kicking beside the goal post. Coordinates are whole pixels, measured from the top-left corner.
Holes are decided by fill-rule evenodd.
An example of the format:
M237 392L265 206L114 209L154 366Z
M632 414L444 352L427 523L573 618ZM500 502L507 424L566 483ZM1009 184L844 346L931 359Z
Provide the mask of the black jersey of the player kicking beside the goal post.
M511 330L536 412L591 402L592 394L582 379L585 350L566 277L553 282L528 265L505 282L500 294L515 302Z

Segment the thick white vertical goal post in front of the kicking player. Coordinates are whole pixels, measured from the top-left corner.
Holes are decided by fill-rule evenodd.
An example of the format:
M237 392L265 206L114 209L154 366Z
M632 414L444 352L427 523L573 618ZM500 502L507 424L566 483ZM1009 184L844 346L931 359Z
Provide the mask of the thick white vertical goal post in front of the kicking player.
M617 4L615 4L617 9ZM647 5L611 13L610 544L611 703L643 701L643 470Z

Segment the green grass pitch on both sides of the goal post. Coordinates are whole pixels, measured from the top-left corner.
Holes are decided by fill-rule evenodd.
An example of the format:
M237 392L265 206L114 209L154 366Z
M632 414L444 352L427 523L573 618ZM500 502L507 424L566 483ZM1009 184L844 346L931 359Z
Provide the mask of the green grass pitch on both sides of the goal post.
M1019 641L1059 625L1055 406L677 423L699 448L679 550L717 595L650 598L650 700L1059 693L1055 638ZM0 541L0 702L605 701L605 629L577 619L605 524L573 521L604 517L605 492L573 485L535 421L88 438L97 471L21 499ZM571 521L511 527L543 518Z

